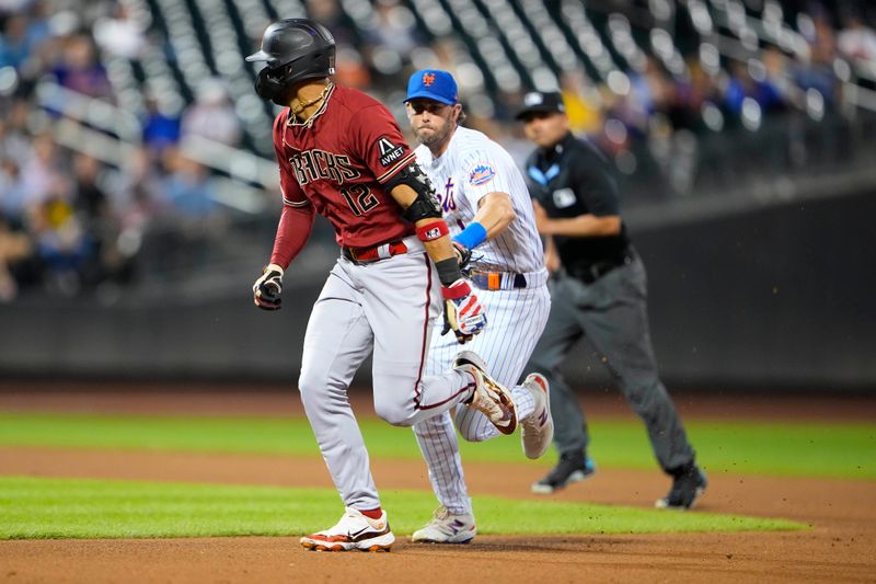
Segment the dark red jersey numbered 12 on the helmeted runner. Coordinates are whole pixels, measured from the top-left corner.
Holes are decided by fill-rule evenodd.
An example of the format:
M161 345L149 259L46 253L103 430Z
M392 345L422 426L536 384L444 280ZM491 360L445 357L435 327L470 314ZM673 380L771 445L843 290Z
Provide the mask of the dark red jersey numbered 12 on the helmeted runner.
M371 247L415 232L383 186L416 159L383 104L335 85L306 123L289 116L287 107L274 121L285 205L313 205L341 245Z

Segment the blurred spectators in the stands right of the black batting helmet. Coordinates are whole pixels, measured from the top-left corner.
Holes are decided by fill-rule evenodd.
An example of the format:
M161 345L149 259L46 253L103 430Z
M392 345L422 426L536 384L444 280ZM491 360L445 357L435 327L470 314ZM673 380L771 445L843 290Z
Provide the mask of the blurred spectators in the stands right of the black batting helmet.
M763 9L760 1L746 3ZM769 134L772 121L780 121L774 133L789 134L785 114L830 124L849 104L843 81L854 77L854 71L866 76L855 79L860 87L873 89L876 8L854 1L785 4L791 26L802 39L795 51L761 42L757 50L744 51L750 57L735 60L721 55L707 37L687 43L676 39L688 49L681 55L679 70L670 70L652 54L630 60L625 69L607 79L596 80L581 65L562 72L556 88L538 89L563 92L573 130L588 135L613 158L621 178L635 175L654 196L689 194L698 161L704 160L707 150L703 142L726 142L727 136L738 136L738 150L750 149L750 137L760 133L758 139L763 140L763 130ZM514 123L514 114L528 88L485 87L483 77L470 75L471 62L461 38L424 35L410 4L396 0L378 1L377 20L365 31L339 10L336 0L315 0L310 7L319 9L315 15L336 34L343 83L381 93L400 113L397 90L405 87L413 70L425 66L448 69L461 80L468 124L523 161L530 146ZM629 21L624 25L629 27ZM690 36L696 36L692 28ZM739 54L744 53L740 49ZM479 99L484 91L488 91L488 100ZM797 156L798 164L808 162L805 151L797 149Z

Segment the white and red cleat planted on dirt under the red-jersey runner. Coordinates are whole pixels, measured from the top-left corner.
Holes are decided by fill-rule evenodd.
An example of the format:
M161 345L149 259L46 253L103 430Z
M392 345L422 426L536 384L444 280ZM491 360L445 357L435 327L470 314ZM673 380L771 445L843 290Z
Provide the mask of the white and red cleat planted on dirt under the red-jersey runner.
M314 551L390 551L394 542L385 511L371 519L350 507L334 527L301 538L301 546Z

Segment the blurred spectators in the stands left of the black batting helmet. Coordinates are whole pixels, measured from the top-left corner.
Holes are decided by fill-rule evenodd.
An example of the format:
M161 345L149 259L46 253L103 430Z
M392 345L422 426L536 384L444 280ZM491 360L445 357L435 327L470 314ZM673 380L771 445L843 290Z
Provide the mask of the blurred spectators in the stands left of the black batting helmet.
M118 164L65 146L59 113L37 103L46 80L116 103L100 56L136 56L145 32L119 41L130 28L113 1L0 3L0 301L27 286L112 299L134 277L148 233L192 244L221 224L215 178L178 148L189 135L240 146L241 123L220 79L180 113L147 96L139 140L118 142Z

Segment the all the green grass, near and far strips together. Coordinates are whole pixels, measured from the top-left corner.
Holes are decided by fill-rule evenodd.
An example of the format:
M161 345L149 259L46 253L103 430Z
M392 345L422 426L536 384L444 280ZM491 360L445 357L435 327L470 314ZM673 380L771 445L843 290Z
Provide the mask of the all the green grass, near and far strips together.
M372 458L416 459L413 433L361 420ZM710 473L876 479L876 425L689 421ZM637 421L591 425L602 468L656 467ZM303 417L183 417L0 412L0 446L274 454L319 457ZM526 462L519 437L462 443L468 462ZM554 457L531 462L552 463ZM2 469L0 469L2 472ZM431 493L382 490L393 530L410 534ZM643 534L799 529L802 524L704 513L667 513L476 496L482 534ZM0 476L0 539L299 535L339 516L332 490L149 483Z

